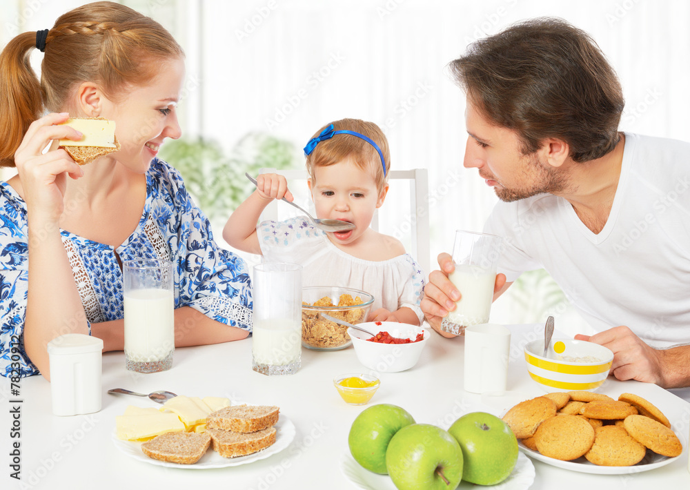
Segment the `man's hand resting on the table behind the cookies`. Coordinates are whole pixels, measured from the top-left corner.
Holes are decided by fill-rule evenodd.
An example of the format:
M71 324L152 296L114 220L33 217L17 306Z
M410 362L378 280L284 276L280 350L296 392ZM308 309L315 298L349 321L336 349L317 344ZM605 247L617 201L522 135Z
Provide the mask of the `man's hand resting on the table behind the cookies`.
M595 335L575 335L576 340L589 340L613 351L610 374L619 380L637 380L669 388L673 384L664 376L667 351L652 349L627 326L615 326Z

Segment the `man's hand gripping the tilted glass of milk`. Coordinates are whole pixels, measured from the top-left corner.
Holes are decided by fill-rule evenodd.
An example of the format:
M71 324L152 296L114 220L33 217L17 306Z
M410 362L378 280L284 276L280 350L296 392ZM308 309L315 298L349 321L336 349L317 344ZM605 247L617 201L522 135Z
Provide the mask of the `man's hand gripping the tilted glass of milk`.
M444 337L455 337L453 333L441 330L441 320L450 311L455 310L455 302L462 297L460 291L457 291L457 288L448 278L448 275L455 271L451 255L441 253L438 256L438 265L440 266L440 271L433 271L429 274L429 280L426 286L424 286L424 297L420 306L426 321L435 331ZM500 291L505 284L506 276L503 274L496 275L494 293Z

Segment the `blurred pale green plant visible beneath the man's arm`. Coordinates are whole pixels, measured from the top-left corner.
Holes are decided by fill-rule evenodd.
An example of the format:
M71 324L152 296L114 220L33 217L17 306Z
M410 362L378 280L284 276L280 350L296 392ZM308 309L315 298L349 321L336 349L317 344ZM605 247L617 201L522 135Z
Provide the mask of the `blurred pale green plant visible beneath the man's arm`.
M563 313L570 304L544 269L523 273L508 291L513 300L515 323L542 322L549 315Z

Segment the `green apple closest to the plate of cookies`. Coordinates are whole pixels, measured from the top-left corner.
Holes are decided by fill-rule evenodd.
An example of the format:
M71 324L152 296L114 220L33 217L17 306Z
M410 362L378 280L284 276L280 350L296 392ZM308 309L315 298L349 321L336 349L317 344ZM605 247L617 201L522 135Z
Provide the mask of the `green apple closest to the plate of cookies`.
M517 462L517 438L506 422L491 413L473 412L455 420L448 431L462 448L463 481L495 485L510 476Z

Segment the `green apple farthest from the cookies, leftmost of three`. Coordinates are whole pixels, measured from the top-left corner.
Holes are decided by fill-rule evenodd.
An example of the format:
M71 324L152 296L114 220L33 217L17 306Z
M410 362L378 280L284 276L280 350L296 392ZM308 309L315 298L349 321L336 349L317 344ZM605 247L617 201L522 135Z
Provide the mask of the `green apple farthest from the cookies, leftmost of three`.
M362 411L350 428L348 445L353 458L362 467L385 475L386 449L393 435L415 419L400 406L387 403Z

